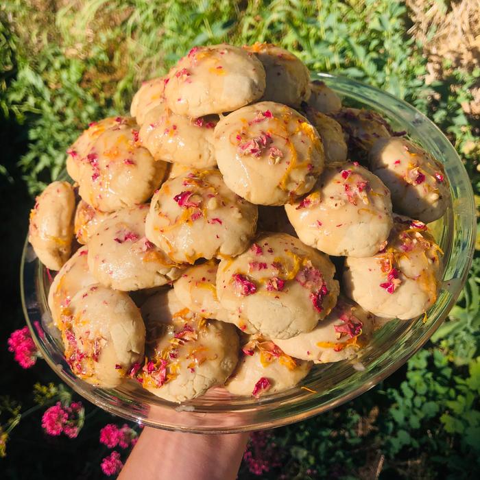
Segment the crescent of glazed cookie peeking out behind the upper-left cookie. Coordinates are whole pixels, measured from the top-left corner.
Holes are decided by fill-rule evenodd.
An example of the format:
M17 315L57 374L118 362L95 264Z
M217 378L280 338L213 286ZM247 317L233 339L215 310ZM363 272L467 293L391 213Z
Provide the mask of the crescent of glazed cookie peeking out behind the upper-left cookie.
M108 117L89 123L88 128L67 149L67 172L75 182L80 181L83 167L88 162L86 156L99 136L107 130L119 130L125 123L135 128L134 120L125 117Z

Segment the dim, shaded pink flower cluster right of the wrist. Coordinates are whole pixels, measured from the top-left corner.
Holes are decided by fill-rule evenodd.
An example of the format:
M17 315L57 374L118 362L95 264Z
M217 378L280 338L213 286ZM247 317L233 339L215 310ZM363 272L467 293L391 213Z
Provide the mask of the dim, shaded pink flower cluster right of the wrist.
M280 466L280 450L272 442L272 435L265 431L252 433L247 451L243 454L243 461L248 470L259 477Z

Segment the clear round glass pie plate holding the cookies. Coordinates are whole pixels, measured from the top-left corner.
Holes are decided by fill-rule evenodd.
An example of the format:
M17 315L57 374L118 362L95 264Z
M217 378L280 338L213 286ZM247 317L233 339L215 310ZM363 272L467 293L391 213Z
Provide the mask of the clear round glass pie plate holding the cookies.
M451 184L451 205L431 226L444 251L445 270L440 295L427 316L388 322L356 359L315 365L298 386L286 392L256 399L230 396L217 387L178 405L150 394L134 380L104 389L88 385L71 372L47 306L51 277L25 242L21 294L27 324L45 361L78 394L110 413L161 429L232 433L278 427L305 420L366 392L403 365L444 321L466 280L475 238L472 187L459 156L442 132L405 101L346 78L320 73L313 77L333 88L344 104L377 110L395 130L405 130L444 164Z

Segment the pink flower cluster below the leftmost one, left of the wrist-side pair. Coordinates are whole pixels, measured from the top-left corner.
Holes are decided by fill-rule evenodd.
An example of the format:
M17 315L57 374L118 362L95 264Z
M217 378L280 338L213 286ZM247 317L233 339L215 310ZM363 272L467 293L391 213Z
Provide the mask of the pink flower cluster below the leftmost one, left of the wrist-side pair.
M82 428L80 418L83 414L82 402L72 402L69 407L57 402L43 413L42 427L49 435L64 433L69 438L75 438Z

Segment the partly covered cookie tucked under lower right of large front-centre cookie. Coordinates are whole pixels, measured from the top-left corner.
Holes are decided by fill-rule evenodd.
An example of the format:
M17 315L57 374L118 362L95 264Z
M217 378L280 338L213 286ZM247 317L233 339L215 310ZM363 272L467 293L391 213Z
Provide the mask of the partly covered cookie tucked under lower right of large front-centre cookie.
M274 342L288 355L315 363L352 359L368 343L374 316L346 298L311 332Z

